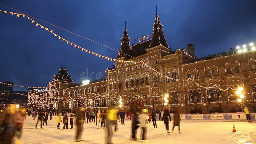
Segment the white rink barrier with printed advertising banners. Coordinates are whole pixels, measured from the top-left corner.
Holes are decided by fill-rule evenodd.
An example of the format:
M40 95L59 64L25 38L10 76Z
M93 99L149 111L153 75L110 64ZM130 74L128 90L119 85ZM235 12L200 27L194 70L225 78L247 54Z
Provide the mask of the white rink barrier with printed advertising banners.
M170 114L173 120L173 114ZM180 114L181 120L236 120L245 121L245 113ZM156 114L156 119L159 119ZM250 120L256 121L256 113L250 113Z

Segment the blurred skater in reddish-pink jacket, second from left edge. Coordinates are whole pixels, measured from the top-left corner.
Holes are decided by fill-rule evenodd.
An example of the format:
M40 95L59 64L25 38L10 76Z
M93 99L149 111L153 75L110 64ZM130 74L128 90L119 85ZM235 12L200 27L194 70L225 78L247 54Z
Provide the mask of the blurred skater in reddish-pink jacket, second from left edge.
M17 129L16 129L17 139L15 140L16 144L20 144L20 138L22 135L22 127L23 127L24 121L26 119L26 109L27 108L22 107L22 108L20 108L20 111L17 112L17 114L16 114L16 118L17 118Z

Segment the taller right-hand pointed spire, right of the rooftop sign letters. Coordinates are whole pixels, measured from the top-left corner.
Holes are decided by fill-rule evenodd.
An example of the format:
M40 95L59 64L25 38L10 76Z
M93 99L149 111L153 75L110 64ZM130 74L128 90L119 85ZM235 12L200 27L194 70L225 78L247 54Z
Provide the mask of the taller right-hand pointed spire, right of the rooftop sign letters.
M168 44L166 42L166 39L164 37L164 33L163 33L163 25L160 22L160 18L157 14L157 6L156 6L156 17L155 17L155 22L153 24L153 36L151 38L151 42L149 45L149 48L158 46L158 45L162 45L166 48L168 47Z

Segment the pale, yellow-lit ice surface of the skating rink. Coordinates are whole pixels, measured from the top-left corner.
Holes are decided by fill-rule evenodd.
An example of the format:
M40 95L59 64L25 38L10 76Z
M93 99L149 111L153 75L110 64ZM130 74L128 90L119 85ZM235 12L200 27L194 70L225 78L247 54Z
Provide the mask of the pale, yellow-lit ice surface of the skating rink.
M57 116L52 116L48 120L48 125L40 129L40 122L35 129L37 117L33 121L32 117L27 117L23 127L21 142L24 144L70 144L74 142L76 126L70 129L68 121L68 130L63 130L63 122L60 123L60 130L57 130ZM153 124L148 124L147 140L148 143L181 143L181 144L240 144L256 143L256 123L250 122L220 122L220 121L181 121L181 134L178 134L178 127L175 127L173 134L167 134L165 125L162 121L156 121L158 128ZM233 131L235 124L236 132ZM105 130L96 129L96 123L84 124L82 139L90 144L104 144ZM112 142L114 144L141 143L140 141L130 141L131 120L125 120L125 125L118 122L118 133L113 134ZM170 123L170 129L172 123ZM140 138L140 128L137 130L137 138Z

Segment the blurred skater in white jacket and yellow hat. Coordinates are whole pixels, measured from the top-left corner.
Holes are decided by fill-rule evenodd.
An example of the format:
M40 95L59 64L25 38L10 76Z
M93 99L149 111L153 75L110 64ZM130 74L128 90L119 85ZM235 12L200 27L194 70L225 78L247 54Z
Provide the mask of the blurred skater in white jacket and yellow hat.
M147 134L147 124L148 124L148 109L142 109L142 114L140 114L140 127L142 129L142 142L148 142L146 140L146 134Z

